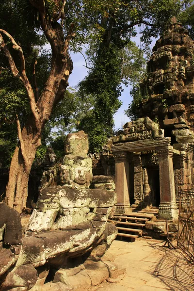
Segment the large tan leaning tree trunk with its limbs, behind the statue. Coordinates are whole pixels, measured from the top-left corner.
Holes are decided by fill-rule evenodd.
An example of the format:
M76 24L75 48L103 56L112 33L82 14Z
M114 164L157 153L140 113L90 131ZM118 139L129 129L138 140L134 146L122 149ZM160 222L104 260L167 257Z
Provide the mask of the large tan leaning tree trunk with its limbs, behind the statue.
M9 181L6 188L6 203L10 207L14 207L19 213L26 207L29 175L36 150L41 145L41 135L45 123L49 120L54 106L64 97L65 89L68 86L68 78L73 69L68 46L70 39L74 37L74 24L70 24L69 30L64 37L63 21L61 24L58 22L60 17L63 17L62 20L64 19L66 1L61 6L61 1L55 0L55 8L59 10L59 15L55 19L55 10L53 10L52 21L48 17L44 0L30 0L30 2L39 11L41 27L52 49L50 75L41 96L38 98L38 94L36 94L38 100L35 98L32 86L26 76L25 58L22 48L8 32L0 29L0 32L5 34L11 41L12 48L18 51L21 61L20 70L17 69L15 61L0 33L0 47L9 61L13 76L23 82L31 107L31 114L22 132L19 119L16 115L19 142L12 158ZM35 74L35 69L33 73Z

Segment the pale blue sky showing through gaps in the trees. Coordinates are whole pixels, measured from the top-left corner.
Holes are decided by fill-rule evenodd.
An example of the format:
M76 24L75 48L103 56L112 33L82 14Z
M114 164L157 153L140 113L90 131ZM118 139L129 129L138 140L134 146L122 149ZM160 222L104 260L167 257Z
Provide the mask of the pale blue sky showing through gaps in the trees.
M135 41L136 44L140 46L140 33L138 33L136 37L131 38L131 40ZM155 39L152 40L153 45L155 44L155 41ZM69 77L69 86L74 87L86 76L87 70L84 66L85 60L81 53L71 53L71 58L73 60L73 71ZM125 115L124 110L128 108L129 103L132 101L129 94L130 88L130 86L123 86L124 91L120 97L123 104L117 113L114 114L115 129L122 128L122 126L129 121L129 117Z

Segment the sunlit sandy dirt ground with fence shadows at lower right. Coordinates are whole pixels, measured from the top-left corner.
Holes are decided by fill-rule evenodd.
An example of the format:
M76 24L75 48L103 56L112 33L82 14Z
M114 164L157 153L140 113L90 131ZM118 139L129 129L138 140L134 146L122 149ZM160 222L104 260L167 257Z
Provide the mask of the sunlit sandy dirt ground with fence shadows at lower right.
M135 242L114 241L107 253L126 272L117 282L104 282L90 291L194 291L194 265L180 250L163 244L142 238Z

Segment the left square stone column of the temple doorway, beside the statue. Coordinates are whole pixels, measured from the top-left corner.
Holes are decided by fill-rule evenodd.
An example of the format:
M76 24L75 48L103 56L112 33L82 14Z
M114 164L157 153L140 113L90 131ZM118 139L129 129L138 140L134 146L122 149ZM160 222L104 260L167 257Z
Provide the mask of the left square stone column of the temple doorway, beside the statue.
M115 160L115 186L117 194L116 212L125 213L129 203L129 158L127 152L113 154Z

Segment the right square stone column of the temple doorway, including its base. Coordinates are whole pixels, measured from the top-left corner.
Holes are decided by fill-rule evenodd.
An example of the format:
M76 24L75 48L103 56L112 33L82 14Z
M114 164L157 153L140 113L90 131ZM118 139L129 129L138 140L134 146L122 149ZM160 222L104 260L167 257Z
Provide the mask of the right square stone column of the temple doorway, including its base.
M157 150L160 175L159 219L178 219L173 170L173 147Z

